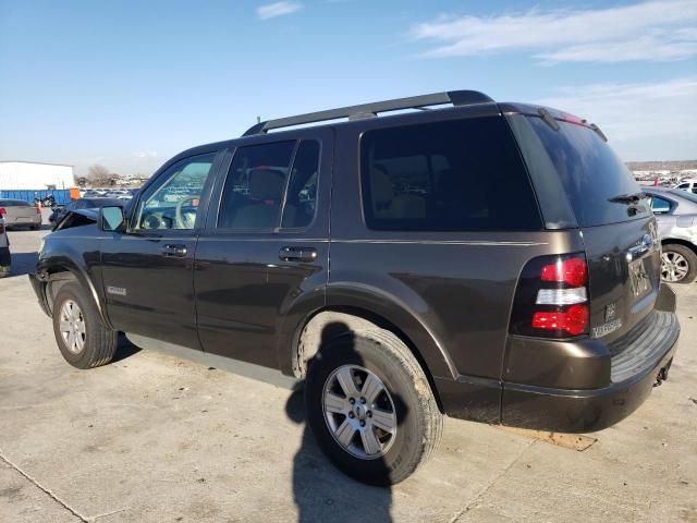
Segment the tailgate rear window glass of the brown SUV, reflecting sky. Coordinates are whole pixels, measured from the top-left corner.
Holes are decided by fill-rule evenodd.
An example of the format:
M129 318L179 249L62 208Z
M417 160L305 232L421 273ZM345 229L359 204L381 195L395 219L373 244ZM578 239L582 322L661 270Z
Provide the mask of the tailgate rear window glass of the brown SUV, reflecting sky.
M645 198L638 203L617 200L619 196L640 194L641 188L595 131L568 122L558 122L555 131L538 117L528 117L527 121L554 166L578 226L602 226L650 216Z

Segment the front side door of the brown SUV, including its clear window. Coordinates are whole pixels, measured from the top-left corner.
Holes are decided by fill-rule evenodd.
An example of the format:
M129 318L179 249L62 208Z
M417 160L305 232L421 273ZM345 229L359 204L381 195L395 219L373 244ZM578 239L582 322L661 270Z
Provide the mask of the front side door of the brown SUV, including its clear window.
M147 185L126 233L102 241L107 313L115 329L199 349L193 263L216 151L175 161Z

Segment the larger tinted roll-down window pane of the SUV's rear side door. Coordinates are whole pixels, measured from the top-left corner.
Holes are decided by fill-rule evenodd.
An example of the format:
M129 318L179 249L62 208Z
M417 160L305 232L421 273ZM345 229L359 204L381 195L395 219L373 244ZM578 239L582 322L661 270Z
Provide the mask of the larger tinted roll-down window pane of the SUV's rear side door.
M218 227L279 227L285 180L295 142L276 142L237 149L222 192Z

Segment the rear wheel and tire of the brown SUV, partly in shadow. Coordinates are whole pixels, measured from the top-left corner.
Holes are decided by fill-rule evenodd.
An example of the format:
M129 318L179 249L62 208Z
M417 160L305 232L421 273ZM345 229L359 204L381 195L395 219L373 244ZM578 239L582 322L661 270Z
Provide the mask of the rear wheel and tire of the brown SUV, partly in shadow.
M442 434L424 370L389 331L350 332L325 343L308 370L305 404L330 461L370 485L406 479Z

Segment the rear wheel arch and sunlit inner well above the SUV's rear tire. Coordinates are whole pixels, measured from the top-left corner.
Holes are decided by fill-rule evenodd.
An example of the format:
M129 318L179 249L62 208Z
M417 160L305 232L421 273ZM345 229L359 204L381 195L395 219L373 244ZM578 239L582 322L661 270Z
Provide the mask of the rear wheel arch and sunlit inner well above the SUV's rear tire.
M328 336L325 332L325 327L329 325L331 325L332 328L329 332L330 339L337 338L346 332L375 330L376 328L390 331L396 336L418 362L419 366L424 370L426 379L428 379L433 397L438 402L438 408L441 412L444 412L438 394L438 389L436 388L433 376L428 369L428 366L416 345L395 325L383 317L365 309L354 307L326 308L315 313L304 324L304 326L298 329L293 344L293 374L297 378L305 378L308 363L321 346L322 338Z

